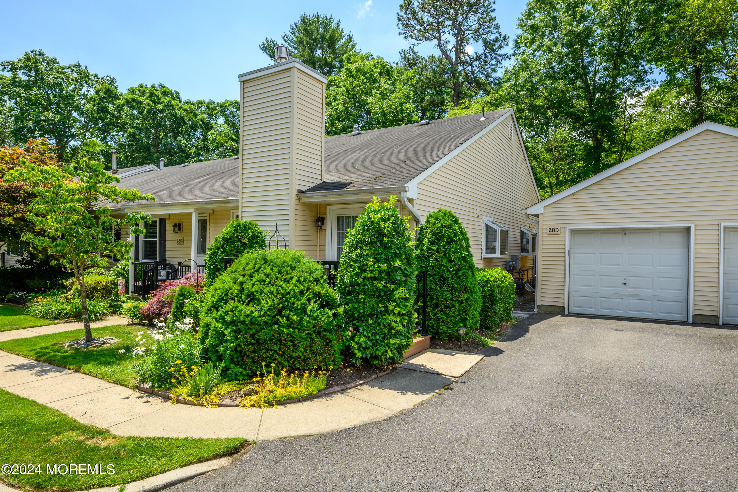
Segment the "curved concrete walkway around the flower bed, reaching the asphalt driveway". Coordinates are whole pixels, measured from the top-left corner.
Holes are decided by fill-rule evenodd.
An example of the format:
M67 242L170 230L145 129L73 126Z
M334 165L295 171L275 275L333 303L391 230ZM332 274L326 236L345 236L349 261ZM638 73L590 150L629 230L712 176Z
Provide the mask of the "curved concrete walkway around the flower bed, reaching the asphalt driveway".
M337 431L390 417L431 398L482 358L424 350L368 384L263 412L175 405L156 395L2 351L0 387L118 435L270 440Z

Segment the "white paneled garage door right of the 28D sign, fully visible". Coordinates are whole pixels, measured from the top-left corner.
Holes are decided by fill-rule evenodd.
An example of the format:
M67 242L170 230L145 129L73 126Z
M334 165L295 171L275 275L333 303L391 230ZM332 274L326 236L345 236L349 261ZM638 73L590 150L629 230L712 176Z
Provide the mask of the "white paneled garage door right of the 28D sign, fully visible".
M687 320L688 229L575 230L570 241L570 313Z

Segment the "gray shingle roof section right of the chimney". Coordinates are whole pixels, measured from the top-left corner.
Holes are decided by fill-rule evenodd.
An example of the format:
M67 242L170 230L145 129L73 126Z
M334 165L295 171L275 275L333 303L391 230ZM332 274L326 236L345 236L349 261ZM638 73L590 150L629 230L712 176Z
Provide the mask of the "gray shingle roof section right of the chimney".
M434 119L427 125L393 126L325 139L323 182L305 190L402 186L492 125L508 109Z

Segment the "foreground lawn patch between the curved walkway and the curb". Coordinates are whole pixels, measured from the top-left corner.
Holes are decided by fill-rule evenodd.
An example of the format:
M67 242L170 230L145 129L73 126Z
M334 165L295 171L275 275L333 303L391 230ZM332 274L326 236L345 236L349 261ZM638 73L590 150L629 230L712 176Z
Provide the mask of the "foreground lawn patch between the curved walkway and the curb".
M237 452L248 441L122 437L0 389L0 465L41 465L41 474L0 474L7 485L35 491L79 491L153 477ZM46 474L46 465L114 465L115 473ZM65 469L66 470L66 469ZM20 468L18 471L23 471Z

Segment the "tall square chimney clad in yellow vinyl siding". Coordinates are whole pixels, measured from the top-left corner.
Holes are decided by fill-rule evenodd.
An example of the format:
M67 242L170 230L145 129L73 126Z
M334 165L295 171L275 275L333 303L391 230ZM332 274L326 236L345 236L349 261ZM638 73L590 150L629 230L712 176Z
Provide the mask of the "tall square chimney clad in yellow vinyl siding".
M317 208L298 190L323 180L325 83L296 67L244 80L241 212L317 257Z

